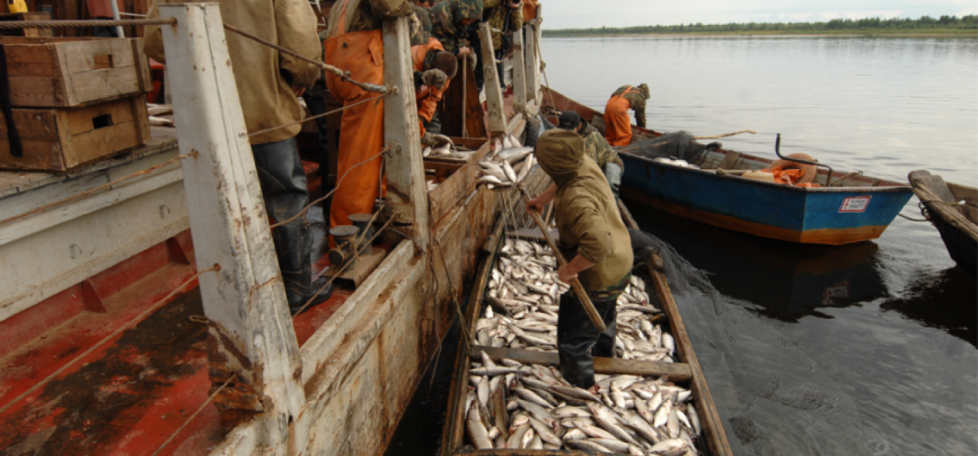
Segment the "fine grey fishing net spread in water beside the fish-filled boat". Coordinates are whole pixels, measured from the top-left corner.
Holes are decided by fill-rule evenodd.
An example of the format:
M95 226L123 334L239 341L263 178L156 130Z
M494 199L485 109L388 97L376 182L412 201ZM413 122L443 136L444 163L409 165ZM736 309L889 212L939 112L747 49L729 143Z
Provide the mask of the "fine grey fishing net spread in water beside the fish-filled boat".
M888 445L863 425L855 401L757 306L718 292L656 236L631 231L633 248L662 258L689 339L733 453L878 455Z

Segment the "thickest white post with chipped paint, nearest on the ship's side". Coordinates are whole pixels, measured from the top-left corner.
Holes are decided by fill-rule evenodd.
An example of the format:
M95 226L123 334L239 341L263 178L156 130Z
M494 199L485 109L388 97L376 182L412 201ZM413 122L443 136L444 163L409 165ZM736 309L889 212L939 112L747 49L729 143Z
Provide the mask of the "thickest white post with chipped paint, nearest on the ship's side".
M302 364L216 3L160 5L184 188L207 323L214 403L263 412L259 441L285 441L305 403Z

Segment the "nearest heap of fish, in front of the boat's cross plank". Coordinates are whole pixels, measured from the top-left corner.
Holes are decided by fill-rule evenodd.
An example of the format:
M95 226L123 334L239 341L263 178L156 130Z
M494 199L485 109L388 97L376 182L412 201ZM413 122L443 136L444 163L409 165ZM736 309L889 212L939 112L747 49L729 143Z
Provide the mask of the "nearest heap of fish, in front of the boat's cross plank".
M597 394L559 370L485 352L472 362L465 403L477 449L579 449L631 455L696 455L699 417L689 390L665 378L595 375Z

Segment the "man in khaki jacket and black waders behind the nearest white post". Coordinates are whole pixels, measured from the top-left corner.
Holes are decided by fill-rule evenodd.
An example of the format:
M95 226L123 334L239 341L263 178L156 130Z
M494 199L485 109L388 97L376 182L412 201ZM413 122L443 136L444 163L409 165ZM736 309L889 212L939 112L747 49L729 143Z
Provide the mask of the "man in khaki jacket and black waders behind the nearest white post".
M189 3L188 0L155 0L150 7L149 18L159 17L157 2ZM309 2L221 0L219 3L225 23L300 55L320 60L316 17ZM236 33L227 33L227 43L247 131L274 128L248 139L265 199L265 210L276 221L288 220L298 214L309 199L305 171L295 145L295 135L302 127L300 124L275 127L304 117L305 111L296 97L312 87L319 77L319 67L280 54ZM146 27L144 46L148 56L158 62L166 62L158 25ZM310 283L312 234L305 216L275 228L273 237L289 309L294 314L313 298L326 281ZM326 301L332 291L332 287L324 289L313 299L313 304Z

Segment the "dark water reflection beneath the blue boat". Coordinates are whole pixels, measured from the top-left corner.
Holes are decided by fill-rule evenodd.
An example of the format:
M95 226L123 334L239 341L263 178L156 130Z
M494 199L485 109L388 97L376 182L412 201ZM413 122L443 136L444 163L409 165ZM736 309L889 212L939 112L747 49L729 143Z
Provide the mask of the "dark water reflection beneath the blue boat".
M635 207L633 205L633 207ZM635 211L645 230L670 243L689 263L711 273L721 293L760 305L757 313L786 322L820 308L845 308L888 296L876 268L874 242L803 245L714 228L653 211Z

